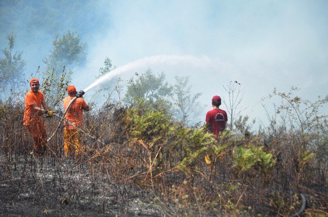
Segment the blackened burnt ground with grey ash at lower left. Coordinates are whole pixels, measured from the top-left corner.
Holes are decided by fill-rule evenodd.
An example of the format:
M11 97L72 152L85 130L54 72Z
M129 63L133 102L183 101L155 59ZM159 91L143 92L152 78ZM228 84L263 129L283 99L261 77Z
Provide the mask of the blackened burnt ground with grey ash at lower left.
M151 195L87 161L0 156L1 216L159 216L142 198Z

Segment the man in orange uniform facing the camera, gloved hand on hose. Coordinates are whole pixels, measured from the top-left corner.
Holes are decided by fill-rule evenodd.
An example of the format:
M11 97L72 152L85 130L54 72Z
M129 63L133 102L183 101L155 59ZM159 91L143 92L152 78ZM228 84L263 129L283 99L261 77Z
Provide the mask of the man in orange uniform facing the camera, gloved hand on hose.
M45 96L39 91L40 84L37 78L30 80L31 90L25 96L25 110L23 124L33 137L34 152L37 156L43 155L47 147L47 133L44 122L41 119L42 114L51 116L53 111L49 110L46 104ZM43 108L41 107L43 106Z

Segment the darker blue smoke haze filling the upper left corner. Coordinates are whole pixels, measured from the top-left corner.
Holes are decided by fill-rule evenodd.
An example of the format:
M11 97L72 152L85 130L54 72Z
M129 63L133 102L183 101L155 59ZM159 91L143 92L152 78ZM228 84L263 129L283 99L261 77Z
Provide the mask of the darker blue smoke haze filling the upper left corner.
M85 46L86 39L91 40L96 31L101 34L102 28L107 26L103 17L107 12L105 8L101 12L100 1L58 0L3 0L0 1L0 47L6 45L6 34L16 34L16 48L23 50L23 58L26 60L26 71L35 72L38 66L43 72L47 66L43 66L45 57L54 57L50 54L52 49L58 49L61 40L56 35L65 35L74 38L81 37L81 46ZM86 13L88 11L88 13ZM73 16L71 16L73 14ZM70 32L68 32L70 30ZM53 40L55 40L52 48ZM85 53L84 53L85 55ZM83 56L83 55L82 55ZM85 58L86 56L81 58ZM55 64L48 59L47 63ZM59 67L60 68L60 67ZM62 67L59 72L62 71ZM56 72L57 69L56 69Z

